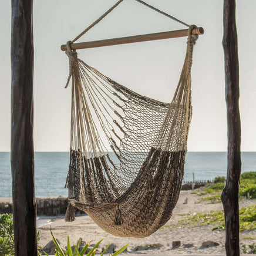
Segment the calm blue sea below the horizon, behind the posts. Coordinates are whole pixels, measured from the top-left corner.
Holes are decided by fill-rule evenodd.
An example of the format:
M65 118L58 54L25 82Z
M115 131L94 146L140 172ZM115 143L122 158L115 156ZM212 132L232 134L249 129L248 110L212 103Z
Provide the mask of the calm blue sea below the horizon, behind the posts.
M256 171L256 152L242 152L242 173ZM69 152L35 153L36 197L68 196L64 188L69 167ZM184 180L213 180L227 174L226 152L188 152ZM10 153L0 153L0 197L12 197Z

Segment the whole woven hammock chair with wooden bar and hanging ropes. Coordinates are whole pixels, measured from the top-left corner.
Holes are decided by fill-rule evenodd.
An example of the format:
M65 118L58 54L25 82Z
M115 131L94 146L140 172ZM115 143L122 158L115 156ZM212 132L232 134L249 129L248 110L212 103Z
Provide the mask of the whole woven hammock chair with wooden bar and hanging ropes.
M203 28L62 45L72 80L69 206L85 211L103 230L120 237L147 237L163 226L176 206L184 174L191 120L193 46ZM78 58L76 49L188 35L187 53L171 103L144 97ZM72 79L71 79L72 78ZM111 149L110 151L108 151ZM113 152L112 152L113 151Z

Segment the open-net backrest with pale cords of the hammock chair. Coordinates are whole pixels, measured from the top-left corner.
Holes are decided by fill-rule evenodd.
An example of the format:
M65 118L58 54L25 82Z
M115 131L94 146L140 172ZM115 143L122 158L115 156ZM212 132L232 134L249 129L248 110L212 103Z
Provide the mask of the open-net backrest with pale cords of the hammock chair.
M70 166L73 170L82 166L87 178L79 178L81 184L70 198L109 203L134 183L151 149L185 150L189 109L181 102L184 93L183 104L162 103L119 85L80 59L78 65L78 83L75 78L72 83Z

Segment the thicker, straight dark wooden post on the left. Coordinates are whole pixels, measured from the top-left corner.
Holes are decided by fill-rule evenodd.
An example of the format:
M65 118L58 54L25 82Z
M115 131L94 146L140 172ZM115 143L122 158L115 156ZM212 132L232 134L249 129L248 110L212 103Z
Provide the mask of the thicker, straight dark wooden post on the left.
M15 255L36 256L33 0L12 0L11 167Z

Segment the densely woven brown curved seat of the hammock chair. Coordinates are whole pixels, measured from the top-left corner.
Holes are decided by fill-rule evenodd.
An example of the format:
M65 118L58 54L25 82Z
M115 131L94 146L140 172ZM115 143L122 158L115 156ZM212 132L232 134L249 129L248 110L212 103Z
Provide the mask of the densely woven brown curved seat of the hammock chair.
M161 167L149 189L147 172L139 172L134 183L119 198L109 203L86 203L70 200L72 206L85 211L107 233L119 237L147 237L171 217L178 200L183 178L185 151L151 154L161 155ZM153 158L152 158L153 159ZM183 161L180 161L183 160ZM170 168L176 170L171 172Z

